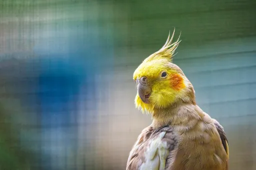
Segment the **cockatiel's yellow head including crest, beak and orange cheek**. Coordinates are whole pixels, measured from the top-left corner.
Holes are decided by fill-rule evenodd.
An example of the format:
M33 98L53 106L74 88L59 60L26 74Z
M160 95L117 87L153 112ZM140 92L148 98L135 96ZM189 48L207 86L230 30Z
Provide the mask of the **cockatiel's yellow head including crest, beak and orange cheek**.
M134 71L137 86L136 108L153 113L155 109L173 107L179 102L194 102L194 90L182 70L171 62L179 38L171 44L168 36L157 52L148 56Z

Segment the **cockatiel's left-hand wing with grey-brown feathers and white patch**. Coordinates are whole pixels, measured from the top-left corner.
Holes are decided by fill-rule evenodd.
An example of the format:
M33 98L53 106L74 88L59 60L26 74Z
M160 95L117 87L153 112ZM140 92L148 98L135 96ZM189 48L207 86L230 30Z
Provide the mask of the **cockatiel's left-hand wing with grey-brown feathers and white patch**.
M165 170L174 162L176 144L170 127L143 129L130 151L126 170Z

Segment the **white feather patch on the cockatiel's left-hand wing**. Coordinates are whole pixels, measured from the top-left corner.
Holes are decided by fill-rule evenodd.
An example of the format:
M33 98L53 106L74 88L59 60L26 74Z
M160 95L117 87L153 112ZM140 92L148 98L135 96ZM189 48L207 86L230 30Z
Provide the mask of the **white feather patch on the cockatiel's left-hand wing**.
M166 132L161 132L158 138L151 140L145 155L145 162L139 170L164 170L168 156L167 142L162 140Z

